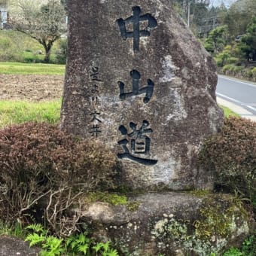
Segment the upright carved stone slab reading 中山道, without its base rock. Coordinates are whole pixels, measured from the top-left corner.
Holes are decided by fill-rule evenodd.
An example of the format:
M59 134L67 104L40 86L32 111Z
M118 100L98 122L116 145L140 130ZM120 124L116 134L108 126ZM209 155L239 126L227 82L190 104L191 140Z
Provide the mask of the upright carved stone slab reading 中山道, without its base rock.
M73 0L61 127L101 141L123 163L123 183L207 187L202 140L223 114L211 56L167 0Z

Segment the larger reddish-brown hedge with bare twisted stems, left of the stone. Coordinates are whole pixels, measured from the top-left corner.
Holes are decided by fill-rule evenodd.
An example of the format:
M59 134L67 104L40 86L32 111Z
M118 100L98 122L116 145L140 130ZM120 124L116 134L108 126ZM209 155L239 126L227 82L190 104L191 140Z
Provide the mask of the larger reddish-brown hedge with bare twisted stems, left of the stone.
M23 218L44 212L50 200L48 210L58 200L72 202L81 192L114 187L114 166L114 154L102 145L48 123L0 130L0 216Z

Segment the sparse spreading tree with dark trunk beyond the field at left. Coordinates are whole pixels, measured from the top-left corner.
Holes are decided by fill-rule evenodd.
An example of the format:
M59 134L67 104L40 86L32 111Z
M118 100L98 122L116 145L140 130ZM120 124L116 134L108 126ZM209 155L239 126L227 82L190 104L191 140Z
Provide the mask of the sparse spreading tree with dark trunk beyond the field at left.
M10 14L11 26L42 44L44 62L50 62L53 43L66 30L66 11L62 3L59 0L13 0Z

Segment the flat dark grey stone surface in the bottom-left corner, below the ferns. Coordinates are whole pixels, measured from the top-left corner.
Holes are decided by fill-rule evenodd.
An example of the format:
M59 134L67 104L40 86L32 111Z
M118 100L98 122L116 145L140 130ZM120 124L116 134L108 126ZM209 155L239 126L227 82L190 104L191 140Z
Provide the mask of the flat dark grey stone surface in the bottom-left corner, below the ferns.
M40 249L29 248L28 242L9 237L0 236L0 255L1 256L38 256Z

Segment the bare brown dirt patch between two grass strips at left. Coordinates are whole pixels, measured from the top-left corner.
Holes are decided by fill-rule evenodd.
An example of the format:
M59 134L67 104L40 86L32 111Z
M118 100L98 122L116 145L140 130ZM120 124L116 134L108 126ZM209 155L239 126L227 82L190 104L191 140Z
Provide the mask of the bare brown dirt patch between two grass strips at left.
M0 100L50 101L62 96L64 75L0 74Z

